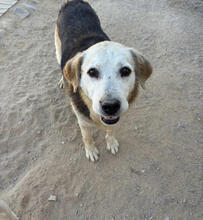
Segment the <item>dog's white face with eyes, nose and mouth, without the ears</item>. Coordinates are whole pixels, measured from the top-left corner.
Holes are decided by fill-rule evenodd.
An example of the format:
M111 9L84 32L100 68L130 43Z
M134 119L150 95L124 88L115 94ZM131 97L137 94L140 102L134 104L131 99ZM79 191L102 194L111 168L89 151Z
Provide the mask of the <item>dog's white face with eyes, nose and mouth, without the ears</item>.
M103 123L115 124L128 109L128 95L135 84L132 55L119 44L105 42L85 53L80 86L92 100L93 111Z

